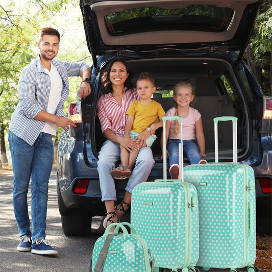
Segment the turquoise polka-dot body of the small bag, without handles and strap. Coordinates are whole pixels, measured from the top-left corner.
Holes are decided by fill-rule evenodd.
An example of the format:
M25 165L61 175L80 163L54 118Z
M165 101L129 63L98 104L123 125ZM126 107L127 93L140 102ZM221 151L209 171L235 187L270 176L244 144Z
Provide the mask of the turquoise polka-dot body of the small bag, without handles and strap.
M92 253L92 271L94 271L100 251L106 236L98 238ZM147 263L149 260L147 260ZM141 242L136 237L117 235L114 236L104 264L103 272L146 272L144 253ZM151 269L149 270L151 271Z

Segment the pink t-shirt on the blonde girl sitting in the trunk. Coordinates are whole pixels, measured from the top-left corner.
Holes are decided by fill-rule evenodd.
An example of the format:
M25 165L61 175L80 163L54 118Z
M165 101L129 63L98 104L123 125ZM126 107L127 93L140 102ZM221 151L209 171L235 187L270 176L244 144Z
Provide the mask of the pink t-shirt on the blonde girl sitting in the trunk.
M176 108L173 107L166 112L166 116L176 115ZM182 138L183 140L195 140L195 122L201 117L198 110L189 107L189 114L186 118L182 119ZM168 139L179 139L180 140L180 125L178 134L174 133L175 121L171 121L170 131Z

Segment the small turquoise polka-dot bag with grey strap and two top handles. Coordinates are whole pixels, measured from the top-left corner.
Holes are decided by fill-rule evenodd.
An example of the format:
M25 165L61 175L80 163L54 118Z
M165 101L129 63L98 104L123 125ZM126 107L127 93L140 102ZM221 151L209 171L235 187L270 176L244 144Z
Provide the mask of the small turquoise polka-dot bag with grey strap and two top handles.
M109 230L113 227L113 234ZM130 234L125 226L129 227ZM122 232L119 232L119 229ZM154 258L145 240L127 223L113 223L94 244L92 272L154 272Z

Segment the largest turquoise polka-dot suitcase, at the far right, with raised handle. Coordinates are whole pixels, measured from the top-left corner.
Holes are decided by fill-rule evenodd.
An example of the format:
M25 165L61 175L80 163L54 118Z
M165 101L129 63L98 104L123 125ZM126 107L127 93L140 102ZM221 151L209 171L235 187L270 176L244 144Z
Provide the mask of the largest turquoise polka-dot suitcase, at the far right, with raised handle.
M217 122L233 121L233 160L218 163ZM249 165L237 163L237 118L215 122L215 163L188 165L184 180L192 183L199 199L200 256L204 270L254 266L256 249L255 179Z

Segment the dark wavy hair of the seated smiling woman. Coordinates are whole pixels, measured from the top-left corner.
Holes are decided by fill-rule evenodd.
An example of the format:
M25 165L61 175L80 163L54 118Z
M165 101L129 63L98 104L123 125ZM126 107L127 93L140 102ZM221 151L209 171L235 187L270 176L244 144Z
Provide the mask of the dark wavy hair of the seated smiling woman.
M133 84L131 82L131 79L133 78L133 74L132 74L131 70L129 69L128 64L124 60L121 60L119 58L115 58L108 63L108 65L107 65L107 67L101 77L101 83L102 83L101 90L103 93L112 93L113 92L112 83L110 81L110 71L111 71L111 67L112 67L113 63L115 63L115 62L121 62L123 65L126 66L129 76L126 79L124 86L127 87L128 89L132 88L132 86L133 86Z

